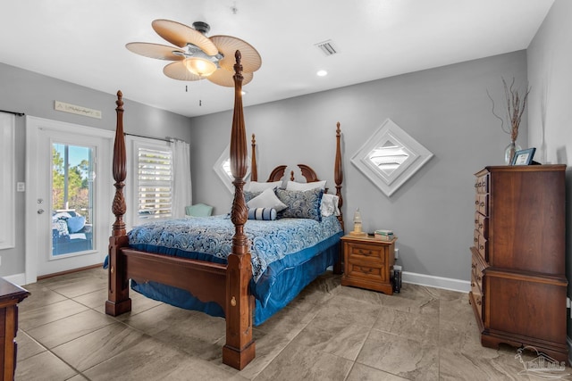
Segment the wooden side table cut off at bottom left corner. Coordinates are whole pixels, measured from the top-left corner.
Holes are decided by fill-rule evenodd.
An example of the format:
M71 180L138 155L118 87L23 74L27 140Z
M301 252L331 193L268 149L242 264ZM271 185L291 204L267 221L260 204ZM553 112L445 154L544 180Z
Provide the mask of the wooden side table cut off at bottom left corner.
M0 277L0 380L13 380L16 370L18 303L29 292Z

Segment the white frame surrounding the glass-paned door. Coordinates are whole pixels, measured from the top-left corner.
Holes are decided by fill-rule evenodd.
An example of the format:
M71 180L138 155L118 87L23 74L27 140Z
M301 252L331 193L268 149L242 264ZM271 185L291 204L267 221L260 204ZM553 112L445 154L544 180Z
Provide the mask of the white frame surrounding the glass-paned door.
M100 137L109 140L109 145L105 150L108 152L97 153L99 165L97 168L98 178L109 178L110 186L97 187L97 236L105 234L109 230L112 223L111 217L111 200L113 194L112 173L111 173L111 155L113 152L115 132L102 128L93 128L81 126L74 123L68 123L60 120L48 120L33 116L26 116L26 184L32 184L32 175L34 173L33 167L37 166L38 157L38 135L41 129L49 129L55 132L70 132L91 137ZM51 195L50 195L51 196ZM37 223L37 208L36 208L37 195L28 187L26 192L26 212L25 212L25 277L26 283L36 283L38 280L38 240L36 236L32 236L32 228ZM32 207L33 205L33 207ZM108 213L105 213L105 207L109 207ZM107 229L106 229L107 228ZM97 242L103 242L100 238L96 238ZM103 239L103 238L102 238ZM98 246L102 246L98 244ZM106 245L100 247L100 250L106 252ZM105 258L105 253L101 253L102 262Z

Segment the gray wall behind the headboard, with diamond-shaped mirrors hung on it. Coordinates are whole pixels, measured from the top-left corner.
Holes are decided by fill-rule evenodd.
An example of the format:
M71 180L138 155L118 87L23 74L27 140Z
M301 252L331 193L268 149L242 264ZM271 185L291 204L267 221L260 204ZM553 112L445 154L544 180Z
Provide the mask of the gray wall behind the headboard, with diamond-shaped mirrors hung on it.
M509 144L486 95L488 89L497 107L504 103L501 77L514 77L518 87L526 88L525 51L246 107L248 137L256 133L259 144L259 177L265 179L276 165L294 169L300 162L333 186L335 125L340 121L346 230L359 207L366 230L392 228L399 236L405 271L468 281L473 174L486 165L502 165ZM350 162L387 118L434 154L391 197ZM226 213L231 194L213 164L229 143L231 112L193 118L191 124L192 141L200 142L191 157L193 199ZM524 121L517 143L526 146L526 138Z

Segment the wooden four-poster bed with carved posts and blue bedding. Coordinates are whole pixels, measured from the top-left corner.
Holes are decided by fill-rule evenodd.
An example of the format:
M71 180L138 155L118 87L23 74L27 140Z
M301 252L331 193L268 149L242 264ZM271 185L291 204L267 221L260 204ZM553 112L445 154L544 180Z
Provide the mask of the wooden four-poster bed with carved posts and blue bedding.
M129 284L136 291L183 308L205 311L226 319L223 363L243 369L255 357L252 326L280 311L302 288L329 266L341 273L341 213L314 213L325 202L324 187L304 190L245 191L248 165L247 137L242 113L240 52L235 54L235 103L231 127L231 172L235 186L229 216L157 221L133 228L123 222L122 193L126 151L122 127L122 93L117 93L117 128L113 172L115 221L109 239L109 287L105 313L130 311ZM341 209L340 123L336 129L334 162L335 201ZM252 139L251 184L257 182L256 142ZM299 164L307 183L324 183L315 171ZM276 167L266 185L282 180L286 166ZM290 182L294 182L293 171ZM294 183L292 186L296 185ZM279 219L250 219L251 203L271 193L280 196L284 210ZM327 192L327 190L325 190ZM245 198L249 198L248 201ZM307 209L297 210L297 205ZM262 209L262 208L257 208ZM266 208L270 209L270 208ZM335 208L337 209L337 208ZM305 214L305 212L309 214ZM274 212L275 214L275 212ZM265 218L266 219L266 218ZM248 221L248 223L247 223ZM190 231L193 232L190 232ZM154 234L156 234L154 236ZM184 234L183 234L184 233ZM306 233L306 234L305 234ZM198 236L205 239L199 241ZM212 253L211 253L212 252Z

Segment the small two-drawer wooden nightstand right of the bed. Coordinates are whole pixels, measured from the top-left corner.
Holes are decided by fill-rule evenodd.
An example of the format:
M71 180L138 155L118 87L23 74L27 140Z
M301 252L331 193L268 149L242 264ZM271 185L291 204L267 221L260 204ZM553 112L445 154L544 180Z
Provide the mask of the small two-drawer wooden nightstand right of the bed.
M395 241L397 238L382 241L369 236L342 236L344 271L341 286L356 286L392 295Z

